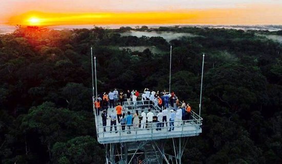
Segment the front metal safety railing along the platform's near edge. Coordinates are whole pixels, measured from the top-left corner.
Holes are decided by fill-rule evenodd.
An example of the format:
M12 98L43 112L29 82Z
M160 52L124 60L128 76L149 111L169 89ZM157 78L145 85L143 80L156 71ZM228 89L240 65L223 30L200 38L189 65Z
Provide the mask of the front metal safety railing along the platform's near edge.
M150 127L144 129L140 127L133 128L133 124L131 124L131 133L127 133L129 131L127 125L125 125L125 130L122 130L122 125L116 125L117 131L115 131L114 126L112 126L112 131L110 131L111 126L98 127L98 142L102 144L137 142L140 140L195 136L202 132L200 128L202 121L188 120L185 124L183 124L183 121L174 121L174 130L171 129L171 131L169 131L172 128L169 126L170 123L164 122L164 124L166 123L168 126L157 127L157 123L154 122L151 123ZM104 128L106 128L106 132L103 131ZM162 130L156 130L156 128Z

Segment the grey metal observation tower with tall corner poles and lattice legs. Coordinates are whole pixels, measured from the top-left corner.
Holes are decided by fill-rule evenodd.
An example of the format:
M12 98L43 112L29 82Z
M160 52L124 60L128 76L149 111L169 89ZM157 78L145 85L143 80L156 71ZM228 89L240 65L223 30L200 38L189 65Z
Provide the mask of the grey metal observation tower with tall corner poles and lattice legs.
M204 68L204 56L203 55L203 68ZM93 57L91 48L91 61L92 61L92 75L93 75ZM96 58L94 57L95 65L95 81L96 81ZM202 68L202 82L203 82L203 68ZM94 77L92 76L93 86L93 103L94 103ZM97 86L95 87L97 88ZM97 97L97 89L96 97ZM202 85L201 85L201 97L202 97ZM202 99L200 98L200 103ZM200 104L199 104L199 107ZM128 111L131 114L138 110L141 110L147 114L150 109L154 115L161 110L158 106L150 105L149 101L137 101L123 103L123 113ZM170 109L170 108L169 108ZM95 107L93 105L93 111L95 116L95 126L97 141L105 146L106 163L118 163L118 164L163 164L163 163L176 163L182 164L182 156L184 149L188 143L189 136L197 136L202 133L202 121L200 113L197 114L191 110L191 118L187 120L185 124L183 121L174 121L174 130L169 131L169 117L167 124L164 127L160 127L162 130L156 130L156 118L154 117L151 126L144 129L140 127L133 128L131 126L131 133L127 133L127 127L123 131L122 125L116 121L115 131L112 126L110 131L110 119L107 119L107 126L102 124L101 113L96 115ZM168 110L168 115L170 114ZM108 108L108 118L111 113L116 114L115 108ZM106 128L106 131L104 131Z

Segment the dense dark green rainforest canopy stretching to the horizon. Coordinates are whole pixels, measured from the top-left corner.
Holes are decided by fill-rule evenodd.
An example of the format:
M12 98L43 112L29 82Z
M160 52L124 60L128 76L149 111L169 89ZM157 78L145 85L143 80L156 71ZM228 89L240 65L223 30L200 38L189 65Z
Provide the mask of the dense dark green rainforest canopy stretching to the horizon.
M95 138L91 46L103 92L168 90L170 45L171 88L195 112L206 54L203 133L189 138L183 163L282 163L282 44L270 34L282 31L18 26L0 35L0 163L105 163Z

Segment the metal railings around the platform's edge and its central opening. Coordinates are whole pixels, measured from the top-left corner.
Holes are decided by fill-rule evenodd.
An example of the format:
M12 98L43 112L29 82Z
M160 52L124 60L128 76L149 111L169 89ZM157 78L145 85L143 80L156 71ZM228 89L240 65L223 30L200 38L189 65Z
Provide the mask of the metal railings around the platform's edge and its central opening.
M154 104L149 104L149 101L136 101L136 103L133 103L132 101L123 102L123 112L127 113L127 111L130 111L132 115L135 113L136 109L139 110L139 114L141 113L140 112L141 110L144 110L146 113L148 113L149 108L154 113L154 115L156 115L159 112L159 110L161 109L158 106L155 106ZM137 141L143 137L146 137L147 139L148 138L154 139L154 138L157 138L160 134L162 134L162 136L166 135L166 138L169 138L174 134L178 136L179 135L185 136L187 133L189 132L191 133L191 129L194 129L195 133L198 133L198 130L202 126L202 121L203 121L203 119L200 118L198 114L196 114L193 110L191 110L190 120L180 120L180 121L175 120L174 121L174 131L173 130L169 131L169 128L170 128L169 114L167 115L167 120L168 120L167 122L162 122L162 124L165 124L164 127L163 126L158 127L162 130L156 130L157 123L158 123L158 122L155 122L156 119L153 123L149 123L151 124L151 126L149 127L147 126L148 123L146 123L145 124L146 128L144 129L140 128L139 125L138 127L134 128L135 125L131 124L130 125L131 133L129 134L127 133L128 132L127 125L125 125L125 130L122 130L123 125L119 124L117 120L116 120L116 124L117 124L116 131L115 131L114 126L109 126L109 125L101 126L102 124L96 124L96 125L100 125L100 126L96 126L98 140L99 138L104 138L104 139L111 138L112 140L119 140L119 142L123 142L124 138L128 137L128 138L131 138ZM111 127L112 127L112 131L110 131ZM104 132L104 128L106 128L106 132Z

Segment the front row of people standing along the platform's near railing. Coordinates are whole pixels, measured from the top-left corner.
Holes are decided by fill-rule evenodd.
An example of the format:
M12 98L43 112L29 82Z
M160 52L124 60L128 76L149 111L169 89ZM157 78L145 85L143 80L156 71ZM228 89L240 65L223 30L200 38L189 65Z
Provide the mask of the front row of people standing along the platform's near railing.
M156 114L156 130L162 130L162 128L165 126L168 127L169 123L169 130L174 130L174 121L177 122L176 126L180 126L182 124L185 124L187 120L190 120L191 116L191 106L190 104L184 104L185 106L179 106L178 109L175 111L174 109L170 109L170 113L167 107L164 107L164 109L160 109L158 113ZM148 113L142 109L141 113L139 114L138 110L135 110L134 114L131 114L130 111L127 111L127 115L125 112L123 112L123 107L118 103L115 107L116 112L114 112L114 109L112 109L109 117L108 112L106 109L103 110L102 113L102 122L103 122L103 130L106 132L106 126L107 126L107 119L110 119L110 132L112 132L112 129L114 127L115 133L117 133L116 124L120 124L122 127L122 131L125 131L127 127L127 133L131 133L130 129L131 126L133 126L133 129L141 128L141 129L150 129L152 128L153 119L155 114L151 111L151 109L148 109ZM167 121L169 119L169 121Z

